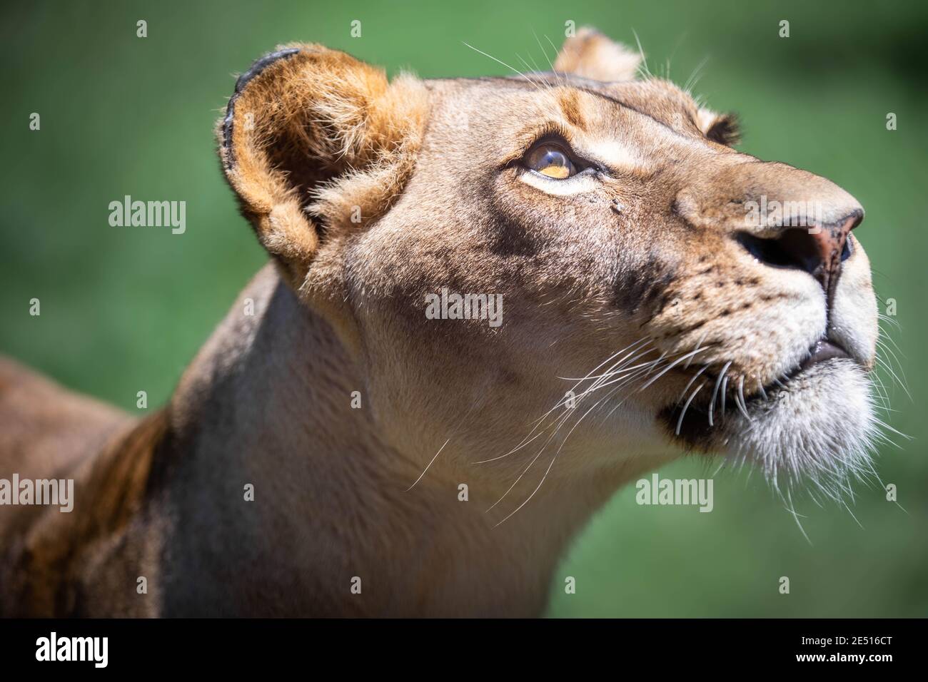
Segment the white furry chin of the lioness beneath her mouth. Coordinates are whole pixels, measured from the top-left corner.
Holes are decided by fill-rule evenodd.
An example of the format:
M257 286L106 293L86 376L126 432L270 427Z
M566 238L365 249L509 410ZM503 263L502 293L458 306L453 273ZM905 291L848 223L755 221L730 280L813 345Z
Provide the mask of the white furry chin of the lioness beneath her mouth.
M728 423L729 456L754 460L775 487L806 481L813 495L844 496L851 478L871 471L870 381L853 361L810 367L767 396L748 404L751 420Z

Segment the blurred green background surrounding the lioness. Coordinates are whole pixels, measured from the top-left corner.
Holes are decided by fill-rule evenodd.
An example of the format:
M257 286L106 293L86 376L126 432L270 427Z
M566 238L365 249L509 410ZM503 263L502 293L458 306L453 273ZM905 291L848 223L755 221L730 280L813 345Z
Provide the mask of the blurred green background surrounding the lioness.
M135 36L138 19L147 38ZM781 19L789 38L778 35ZM320 42L391 73L502 74L463 41L513 66L547 64L547 39L560 46L567 20L632 45L637 32L651 71L664 73L669 59L679 84L707 59L694 90L741 114L742 150L825 175L863 203L857 234L879 294L896 301L900 328L885 331L912 393L890 388L890 421L913 440L894 436L901 448L877 461L905 510L875 484L858 484L850 509L800 501L810 542L757 475L716 476L711 514L638 507L625 489L564 560L549 614L928 615L923 2L6 5L0 352L125 409L140 388L152 406L169 396L265 260L220 176L213 122L233 73L275 45ZM186 200L186 234L110 227L108 204L125 194ZM28 314L32 298L41 316ZM690 459L661 474L706 470ZM565 575L576 594L564 593ZM778 592L783 575L789 595Z

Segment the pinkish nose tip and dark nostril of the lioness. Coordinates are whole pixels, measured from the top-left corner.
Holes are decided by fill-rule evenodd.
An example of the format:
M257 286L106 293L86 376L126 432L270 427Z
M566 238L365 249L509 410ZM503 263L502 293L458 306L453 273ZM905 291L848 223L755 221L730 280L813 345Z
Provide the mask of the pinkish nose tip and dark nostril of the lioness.
M776 238L742 233L741 243L763 264L805 270L815 277L831 302L841 264L851 255L847 236L860 225L864 214L855 209L825 225L790 227Z

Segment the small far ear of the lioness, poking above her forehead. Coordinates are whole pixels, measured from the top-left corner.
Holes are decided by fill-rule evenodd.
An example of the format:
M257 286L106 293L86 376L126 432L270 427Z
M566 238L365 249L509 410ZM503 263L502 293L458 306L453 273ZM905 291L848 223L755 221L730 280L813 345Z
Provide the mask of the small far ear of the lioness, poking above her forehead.
M633 81L640 62L638 52L613 43L596 29L585 26L564 41L554 62L554 71L594 81Z

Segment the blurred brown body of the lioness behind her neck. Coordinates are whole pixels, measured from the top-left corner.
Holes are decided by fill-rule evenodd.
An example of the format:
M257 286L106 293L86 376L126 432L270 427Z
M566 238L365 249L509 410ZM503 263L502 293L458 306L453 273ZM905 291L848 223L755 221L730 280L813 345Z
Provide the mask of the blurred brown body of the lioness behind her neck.
M159 411L135 424L107 406L64 392L4 363L2 413L6 418L18 413L19 428L28 430L30 439L28 448L22 450L6 443L2 474L18 471L23 477L73 478L75 502L70 513L43 507L4 509L0 583L5 585L5 598L0 600L0 612L81 614L86 595L106 586L98 584L98 574L87 573L88 565L96 564L94 555L109 554L122 542L127 525L145 504L153 453L163 441L167 418ZM77 423L69 427L69 412L80 421L79 430ZM44 441L55 444L54 463L43 463L38 457ZM85 451L76 453L77 446ZM69 449L75 454L69 456ZM7 457L12 454L15 460L18 450L25 466L10 467ZM125 593L126 597L130 594ZM143 614L138 606L138 602L113 595L108 611Z

